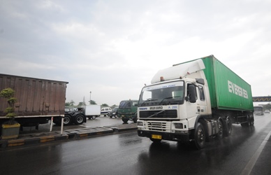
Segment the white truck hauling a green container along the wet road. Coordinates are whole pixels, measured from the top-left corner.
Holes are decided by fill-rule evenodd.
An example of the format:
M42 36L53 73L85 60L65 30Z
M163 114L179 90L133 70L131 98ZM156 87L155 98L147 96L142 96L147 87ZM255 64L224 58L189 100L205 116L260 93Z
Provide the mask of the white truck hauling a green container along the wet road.
M160 70L151 83L138 102L140 137L200 149L211 137L228 137L232 123L254 125L251 86L214 55Z

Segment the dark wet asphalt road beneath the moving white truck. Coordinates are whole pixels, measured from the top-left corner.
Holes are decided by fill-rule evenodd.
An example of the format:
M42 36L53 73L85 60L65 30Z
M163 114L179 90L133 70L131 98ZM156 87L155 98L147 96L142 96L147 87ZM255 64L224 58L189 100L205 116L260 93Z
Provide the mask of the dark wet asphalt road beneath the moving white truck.
M0 174L242 174L270 131L268 113L255 116L255 127L233 125L230 137L200 151L172 141L152 144L136 131L10 148L0 152ZM270 152L263 149L251 174L271 174Z

